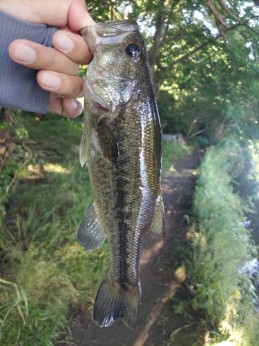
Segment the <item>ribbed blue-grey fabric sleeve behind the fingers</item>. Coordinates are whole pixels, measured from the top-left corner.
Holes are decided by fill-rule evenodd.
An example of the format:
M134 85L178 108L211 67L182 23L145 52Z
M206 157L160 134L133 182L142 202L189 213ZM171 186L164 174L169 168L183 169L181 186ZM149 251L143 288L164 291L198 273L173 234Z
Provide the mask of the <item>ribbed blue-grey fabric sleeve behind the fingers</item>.
M0 106L46 113L50 92L37 83L38 71L10 59L8 46L15 39L29 39L52 47L52 36L57 30L53 26L21 21L0 11Z

